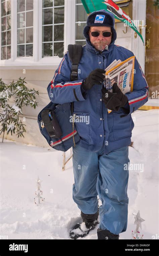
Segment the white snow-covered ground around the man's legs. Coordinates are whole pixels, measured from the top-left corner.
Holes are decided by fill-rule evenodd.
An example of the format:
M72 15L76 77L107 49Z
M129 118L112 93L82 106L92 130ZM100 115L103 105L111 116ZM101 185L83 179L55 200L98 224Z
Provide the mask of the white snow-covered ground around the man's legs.
M133 147L130 163L144 169L129 170L128 225L119 239L130 239L135 230L133 213L140 210L144 239L159 235L158 121L159 110L133 113ZM67 151L68 156L70 150ZM45 201L34 203L39 175ZM8 239L69 239L69 228L80 221L80 209L72 199L72 158L62 171L62 152L50 147L4 140L1 143L0 235ZM99 200L99 204L101 204ZM98 226L97 226L98 228ZM97 239L97 228L81 239ZM80 238L78 238L80 239Z

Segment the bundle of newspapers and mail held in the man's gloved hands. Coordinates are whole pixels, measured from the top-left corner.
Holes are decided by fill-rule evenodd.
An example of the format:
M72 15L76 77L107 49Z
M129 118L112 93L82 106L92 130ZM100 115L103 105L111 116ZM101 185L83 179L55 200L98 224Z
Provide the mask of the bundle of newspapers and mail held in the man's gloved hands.
M113 84L117 83L123 94L133 91L135 56L125 61L114 60L106 69L104 87L113 92ZM108 109L108 113L112 110Z

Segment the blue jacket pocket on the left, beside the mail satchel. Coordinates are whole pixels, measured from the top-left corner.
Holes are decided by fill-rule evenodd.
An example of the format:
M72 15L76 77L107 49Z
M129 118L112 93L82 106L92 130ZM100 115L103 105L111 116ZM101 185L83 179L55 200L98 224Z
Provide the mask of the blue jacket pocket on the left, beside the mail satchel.
M73 116L74 116L74 123L76 126L76 130L80 135L80 137L86 140L90 139L90 134L89 134L90 133L90 130L89 130L90 113L74 110Z

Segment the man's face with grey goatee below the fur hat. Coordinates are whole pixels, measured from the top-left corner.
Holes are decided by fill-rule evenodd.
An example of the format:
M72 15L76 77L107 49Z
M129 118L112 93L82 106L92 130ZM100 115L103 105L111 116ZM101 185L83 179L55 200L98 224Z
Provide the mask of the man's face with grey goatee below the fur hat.
M100 32L100 34L99 36L94 37L91 35L91 32ZM95 49L99 51L104 50L106 45L109 45L111 43L112 34L109 37L104 37L102 34L103 32L111 32L111 28L104 26L90 27L90 41L94 45Z

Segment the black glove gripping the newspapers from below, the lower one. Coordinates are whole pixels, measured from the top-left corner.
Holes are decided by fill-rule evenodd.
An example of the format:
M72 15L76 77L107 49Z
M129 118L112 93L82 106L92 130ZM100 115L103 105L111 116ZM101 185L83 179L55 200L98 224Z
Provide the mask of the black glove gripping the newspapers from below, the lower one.
M128 102L128 98L121 92L117 83L113 84L113 93L105 88L102 88L101 91L102 100L104 101L105 106L110 110L118 111L120 107L124 107Z

